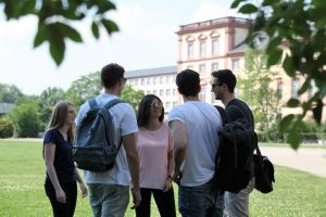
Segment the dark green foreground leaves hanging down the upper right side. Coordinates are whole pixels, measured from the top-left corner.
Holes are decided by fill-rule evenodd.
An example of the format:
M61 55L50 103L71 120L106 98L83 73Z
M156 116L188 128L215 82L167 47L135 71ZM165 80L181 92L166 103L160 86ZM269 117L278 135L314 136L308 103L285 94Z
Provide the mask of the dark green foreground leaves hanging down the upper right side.
M305 114L312 110L314 119L317 123L322 120L323 99L326 95L326 1L234 0L231 8L237 8L240 13L254 15L247 38L251 46L259 33L268 35L268 66L281 61L287 75L305 78L299 94L309 91L312 81L318 88L305 101L290 99L288 105L302 107L303 112L299 116L287 115L280 123L280 131L290 131L287 141L297 149L301 140L298 129L304 125L302 120Z

